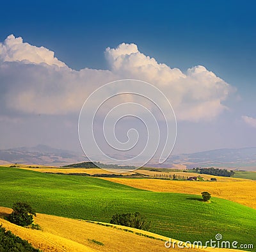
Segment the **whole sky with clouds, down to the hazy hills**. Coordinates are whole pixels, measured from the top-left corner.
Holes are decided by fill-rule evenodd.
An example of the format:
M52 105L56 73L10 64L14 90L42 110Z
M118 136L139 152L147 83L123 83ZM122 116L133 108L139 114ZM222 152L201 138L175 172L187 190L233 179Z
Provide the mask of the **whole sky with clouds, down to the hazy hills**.
M81 151L84 101L118 79L166 95L177 118L173 154L256 146L255 1L5 1L1 9L1 149Z

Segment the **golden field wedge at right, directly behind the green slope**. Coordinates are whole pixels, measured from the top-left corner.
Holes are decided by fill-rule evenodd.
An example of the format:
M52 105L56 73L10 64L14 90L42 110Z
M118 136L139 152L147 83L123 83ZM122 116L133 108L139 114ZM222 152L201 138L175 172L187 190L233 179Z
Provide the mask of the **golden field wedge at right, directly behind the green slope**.
M154 192L170 192L201 195L208 191L212 196L231 200L256 209L256 181L243 180L234 182L200 182L161 180L153 178L102 178L115 183L129 185Z

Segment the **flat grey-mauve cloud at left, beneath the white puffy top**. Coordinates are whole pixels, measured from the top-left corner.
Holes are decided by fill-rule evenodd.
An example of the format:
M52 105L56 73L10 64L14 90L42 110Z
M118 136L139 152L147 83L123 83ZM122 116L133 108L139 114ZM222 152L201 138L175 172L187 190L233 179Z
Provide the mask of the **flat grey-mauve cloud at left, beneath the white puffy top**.
M79 113L90 93L112 80L113 75L108 70L75 71L20 62L0 64L5 106L22 113Z

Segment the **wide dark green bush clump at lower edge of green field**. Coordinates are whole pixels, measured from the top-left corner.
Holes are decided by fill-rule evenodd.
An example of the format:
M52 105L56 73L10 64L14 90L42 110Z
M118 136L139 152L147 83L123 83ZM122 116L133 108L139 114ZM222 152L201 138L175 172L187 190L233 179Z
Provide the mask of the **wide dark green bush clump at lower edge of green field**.
M150 222L147 221L146 217L141 215L140 212L115 214L112 216L110 223L129 226L131 228L138 228L141 230L150 229Z

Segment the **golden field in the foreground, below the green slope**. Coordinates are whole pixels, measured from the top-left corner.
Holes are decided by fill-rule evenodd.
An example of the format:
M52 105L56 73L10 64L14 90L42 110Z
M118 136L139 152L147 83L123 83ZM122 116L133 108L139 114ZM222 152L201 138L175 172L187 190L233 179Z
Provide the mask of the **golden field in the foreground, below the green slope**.
M12 209L0 207L0 224L20 238L28 240L35 248L47 252L82 252L82 251L166 251L164 240L168 237L155 233L136 230L126 226L102 226L96 223L69 219L65 217L36 214L35 223L42 230L31 230L1 219L10 214ZM131 230L131 232L125 232ZM138 235L136 233L140 233ZM155 239L145 237L150 235ZM162 239L162 240L159 240ZM97 240L104 245L92 242ZM177 240L176 240L177 241ZM178 241L177 241L178 242ZM186 249L172 248L172 251L239 251L234 249Z

